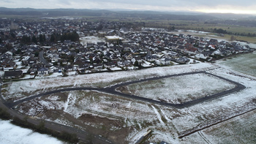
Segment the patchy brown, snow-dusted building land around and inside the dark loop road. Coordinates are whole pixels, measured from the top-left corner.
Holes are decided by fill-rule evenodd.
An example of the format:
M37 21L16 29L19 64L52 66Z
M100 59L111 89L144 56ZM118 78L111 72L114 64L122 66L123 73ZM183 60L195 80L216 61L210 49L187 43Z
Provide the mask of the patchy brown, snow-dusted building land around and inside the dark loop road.
M222 121L223 118L225 120L225 118L230 118L230 116L244 113L254 108L256 104L252 105L252 99L255 98L255 80L236 75L236 73L232 73L229 69L220 68L215 64L199 63L172 67L154 67L129 72L104 72L92 75L24 80L22 82L8 83L8 85L4 85L4 90L6 90L5 94L7 96L19 97L20 94L34 94L34 91L45 92L60 87L105 87L146 77L175 75L203 70L238 83L243 83L246 86L246 90L183 109L155 105L136 99L127 99L100 91L69 91L23 102L15 110L33 118L42 118L67 126L87 129L95 134L101 134L102 137L108 137L116 143L135 143L148 129L154 131L148 143L149 141L159 143L162 140L167 143L181 144L205 143L200 134L197 133L182 139L179 139L178 135L197 126L207 126L214 121ZM165 80L137 83L137 85L141 86L141 91L139 86L137 88L140 93L151 91L152 95L161 94L161 96L169 96L169 94L176 92L177 95L179 93L180 96L184 96L184 99L187 99L187 92L191 95L202 96L198 93L222 91L222 88L229 88L230 83L210 75L186 75L185 77L173 77L173 79L166 78ZM207 91L200 91L200 88L207 89ZM5 98L10 99L12 97ZM243 119L243 121L246 121L246 119ZM238 130L246 132L245 134L253 132L255 128L252 123L242 126L236 125L236 121L234 124L232 121L227 121L226 124L223 125L223 129L222 126L214 126L213 129L205 129L207 132L203 130L200 133L211 143L219 143L219 138L225 137L225 135L227 135L225 142L233 143L233 140L236 139L232 139L232 134L237 130L233 130L233 126L241 126L241 129ZM252 129L248 128L249 124L252 124ZM222 135L218 135L219 132L222 132ZM239 134L239 132L234 134ZM240 136L237 137L239 138ZM246 138L249 139L249 137L241 135L241 139L244 140ZM244 143L246 142L250 143L251 141L244 141Z

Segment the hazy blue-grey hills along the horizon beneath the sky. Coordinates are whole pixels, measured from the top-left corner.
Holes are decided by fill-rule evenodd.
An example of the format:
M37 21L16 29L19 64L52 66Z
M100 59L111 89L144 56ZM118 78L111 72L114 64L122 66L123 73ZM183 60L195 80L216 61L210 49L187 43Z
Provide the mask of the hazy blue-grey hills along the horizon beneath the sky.
M248 18L250 15L200 13L200 12L155 12L134 10L86 10L86 9L31 9L31 8L6 8L0 7L1 15L23 15L23 16L95 16L116 18L146 18L146 19L168 19L168 20L218 20L230 18Z

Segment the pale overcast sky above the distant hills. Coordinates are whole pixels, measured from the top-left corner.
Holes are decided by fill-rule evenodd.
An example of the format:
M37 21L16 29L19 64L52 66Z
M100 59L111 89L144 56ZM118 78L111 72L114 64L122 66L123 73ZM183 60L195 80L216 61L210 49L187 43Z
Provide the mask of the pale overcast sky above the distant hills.
M0 7L128 9L256 14L255 0L0 0Z

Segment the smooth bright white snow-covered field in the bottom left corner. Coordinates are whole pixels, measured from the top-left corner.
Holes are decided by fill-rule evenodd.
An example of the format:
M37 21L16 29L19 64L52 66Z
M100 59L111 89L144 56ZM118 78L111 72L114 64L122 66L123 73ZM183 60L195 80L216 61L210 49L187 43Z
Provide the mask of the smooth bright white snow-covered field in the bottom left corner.
M15 126L10 121L0 119L0 143L3 144L46 144L54 143L61 144L63 142L56 138L50 137L47 134L39 134L31 129L24 129L20 126Z

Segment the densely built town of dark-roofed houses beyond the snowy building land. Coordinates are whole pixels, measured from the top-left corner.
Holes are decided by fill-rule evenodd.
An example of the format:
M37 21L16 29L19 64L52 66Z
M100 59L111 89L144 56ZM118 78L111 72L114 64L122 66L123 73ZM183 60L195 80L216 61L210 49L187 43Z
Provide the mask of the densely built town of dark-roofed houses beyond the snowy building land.
M0 31L3 81L214 62L254 50L239 42L145 29L141 23L82 18L2 18Z

